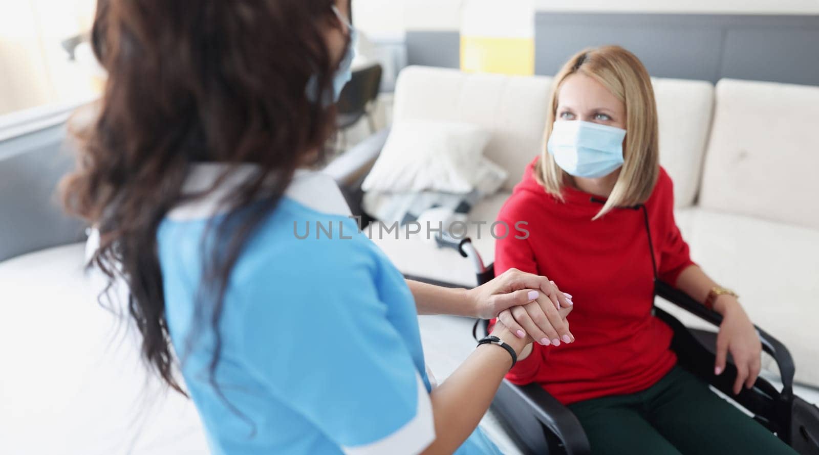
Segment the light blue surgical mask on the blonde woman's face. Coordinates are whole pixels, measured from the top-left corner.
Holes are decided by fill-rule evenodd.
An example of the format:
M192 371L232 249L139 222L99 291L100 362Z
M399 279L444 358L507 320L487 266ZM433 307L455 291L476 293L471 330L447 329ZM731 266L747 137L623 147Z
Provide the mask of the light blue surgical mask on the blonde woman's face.
M546 148L570 175L600 178L622 166L624 137L626 130L621 128L581 120L557 121Z

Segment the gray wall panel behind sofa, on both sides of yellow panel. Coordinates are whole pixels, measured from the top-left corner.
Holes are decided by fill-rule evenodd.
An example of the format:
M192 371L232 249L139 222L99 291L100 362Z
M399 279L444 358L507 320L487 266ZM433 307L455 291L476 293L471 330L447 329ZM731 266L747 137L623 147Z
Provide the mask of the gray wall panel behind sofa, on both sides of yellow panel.
M457 31L408 31L410 65L457 68ZM655 77L819 85L819 16L538 12L535 72L584 47L620 44Z

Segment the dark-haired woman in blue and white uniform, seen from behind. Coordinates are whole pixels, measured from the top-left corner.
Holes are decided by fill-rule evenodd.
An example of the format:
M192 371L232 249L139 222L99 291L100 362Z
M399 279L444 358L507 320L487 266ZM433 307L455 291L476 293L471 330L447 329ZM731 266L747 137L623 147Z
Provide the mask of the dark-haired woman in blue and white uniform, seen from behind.
M416 314L522 305L538 340L573 340L565 295L517 271L472 291L405 282L305 170L349 78L348 3L186 5L100 2L109 80L65 182L147 361L181 392L179 358L214 453L497 453L477 424L532 339L499 324L433 389Z

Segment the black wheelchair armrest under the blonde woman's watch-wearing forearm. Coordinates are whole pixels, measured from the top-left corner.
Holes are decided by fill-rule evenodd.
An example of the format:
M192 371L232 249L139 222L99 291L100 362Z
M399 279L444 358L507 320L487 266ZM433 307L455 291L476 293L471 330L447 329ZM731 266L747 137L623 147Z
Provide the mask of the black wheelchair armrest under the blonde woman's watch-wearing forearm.
M704 304L692 299L690 295L676 289L674 286L666 282L656 282L654 292L656 295L668 300L672 304L694 314L698 318L719 327L722 324L722 315L713 309L708 309ZM770 354L776 360L776 365L779 367L779 372L782 380L782 397L783 399L790 399L794 394L794 358L790 356L790 351L773 336L770 336L766 331L754 326L759 334L759 340L762 341L762 349Z

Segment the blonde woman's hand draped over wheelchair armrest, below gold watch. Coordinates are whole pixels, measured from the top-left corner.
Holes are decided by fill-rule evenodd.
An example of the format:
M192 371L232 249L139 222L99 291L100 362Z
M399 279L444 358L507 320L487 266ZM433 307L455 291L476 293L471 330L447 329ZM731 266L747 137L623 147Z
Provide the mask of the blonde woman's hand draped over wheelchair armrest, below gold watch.
M740 302L731 295L722 295L714 302L714 310L722 314L722 324L717 335L717 363L714 374L725 371L727 354L730 352L736 366L734 394L742 385L750 389L757 381L762 367L762 343Z

